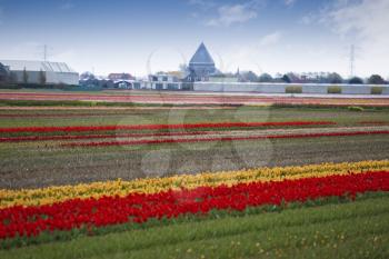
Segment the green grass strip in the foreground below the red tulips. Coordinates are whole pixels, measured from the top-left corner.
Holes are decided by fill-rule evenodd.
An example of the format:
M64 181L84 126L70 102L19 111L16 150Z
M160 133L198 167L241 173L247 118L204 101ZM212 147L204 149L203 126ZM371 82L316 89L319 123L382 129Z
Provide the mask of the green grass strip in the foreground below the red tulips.
M389 196L0 251L0 258L388 258Z

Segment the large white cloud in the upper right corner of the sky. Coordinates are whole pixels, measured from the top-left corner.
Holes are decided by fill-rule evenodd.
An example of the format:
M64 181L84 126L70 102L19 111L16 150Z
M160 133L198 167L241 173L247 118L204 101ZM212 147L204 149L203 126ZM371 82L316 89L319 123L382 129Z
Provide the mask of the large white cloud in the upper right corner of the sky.
M323 14L323 21L337 34L360 48L360 53L357 53L360 60L356 62L360 74L389 74L388 13L388 0L339 0Z

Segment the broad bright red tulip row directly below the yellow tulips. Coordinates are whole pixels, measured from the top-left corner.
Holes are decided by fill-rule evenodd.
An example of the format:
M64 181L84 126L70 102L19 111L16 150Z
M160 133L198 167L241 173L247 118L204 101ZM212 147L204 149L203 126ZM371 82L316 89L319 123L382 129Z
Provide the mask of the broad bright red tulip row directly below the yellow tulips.
M248 207L326 197L353 198L367 191L389 191L389 171L73 199L39 207L18 206L0 210L0 239L32 237L42 231L141 223L188 213L208 215L213 209L243 211Z

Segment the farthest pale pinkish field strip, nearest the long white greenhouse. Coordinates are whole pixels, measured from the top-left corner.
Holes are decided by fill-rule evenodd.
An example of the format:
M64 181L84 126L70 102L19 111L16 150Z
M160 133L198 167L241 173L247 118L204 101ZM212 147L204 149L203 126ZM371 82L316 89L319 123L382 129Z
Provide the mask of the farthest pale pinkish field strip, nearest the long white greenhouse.
M73 93L73 92L0 92L2 100L78 100L134 103L171 103L171 104L336 104L336 106L389 106L389 98L323 98L295 96L227 96L205 93Z

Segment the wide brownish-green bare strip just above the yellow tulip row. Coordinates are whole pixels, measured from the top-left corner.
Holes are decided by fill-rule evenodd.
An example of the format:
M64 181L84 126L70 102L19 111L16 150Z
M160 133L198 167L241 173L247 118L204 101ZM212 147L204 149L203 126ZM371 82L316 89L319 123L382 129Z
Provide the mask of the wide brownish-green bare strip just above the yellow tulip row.
M171 143L99 149L51 149L12 145L0 159L0 188L130 180L174 173L388 159L383 135Z

